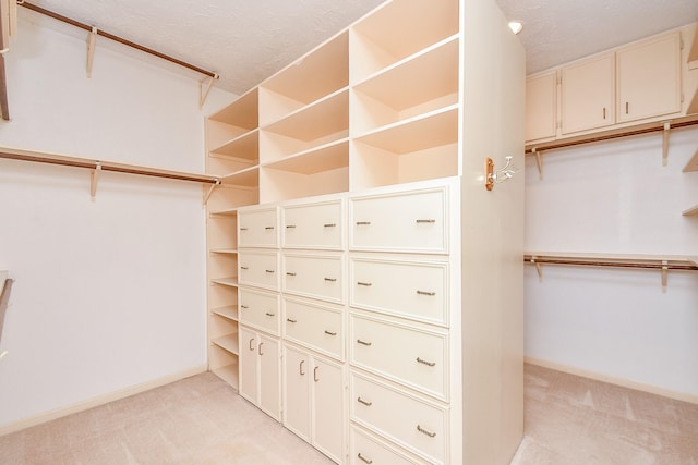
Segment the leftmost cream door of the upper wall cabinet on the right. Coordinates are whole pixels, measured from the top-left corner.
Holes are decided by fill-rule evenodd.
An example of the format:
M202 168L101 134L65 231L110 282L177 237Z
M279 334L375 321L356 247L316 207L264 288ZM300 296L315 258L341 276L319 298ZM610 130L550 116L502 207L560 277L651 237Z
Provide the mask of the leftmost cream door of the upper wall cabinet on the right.
M557 125L557 74L555 71L526 79L526 140L555 136Z

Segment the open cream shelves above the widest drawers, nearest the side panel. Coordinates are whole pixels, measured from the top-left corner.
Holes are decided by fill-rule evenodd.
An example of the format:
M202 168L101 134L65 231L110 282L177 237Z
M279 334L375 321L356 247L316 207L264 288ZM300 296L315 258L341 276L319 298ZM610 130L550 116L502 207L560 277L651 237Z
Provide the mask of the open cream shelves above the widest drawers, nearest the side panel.
M458 174L458 1L402 0L350 28L351 191Z

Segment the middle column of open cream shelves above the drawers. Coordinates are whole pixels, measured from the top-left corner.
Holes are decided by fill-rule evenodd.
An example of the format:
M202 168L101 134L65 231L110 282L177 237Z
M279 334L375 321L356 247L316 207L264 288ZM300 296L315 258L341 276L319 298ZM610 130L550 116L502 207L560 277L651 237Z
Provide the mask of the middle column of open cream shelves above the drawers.
M348 33L260 85L260 199L345 192L349 186Z

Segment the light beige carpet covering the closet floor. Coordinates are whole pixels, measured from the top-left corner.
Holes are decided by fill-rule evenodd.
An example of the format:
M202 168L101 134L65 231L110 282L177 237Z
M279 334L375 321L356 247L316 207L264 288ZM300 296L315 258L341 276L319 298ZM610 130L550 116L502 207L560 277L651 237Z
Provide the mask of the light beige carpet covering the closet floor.
M332 463L212 374L0 437L3 465ZM698 405L527 365L512 465L582 464L698 465Z

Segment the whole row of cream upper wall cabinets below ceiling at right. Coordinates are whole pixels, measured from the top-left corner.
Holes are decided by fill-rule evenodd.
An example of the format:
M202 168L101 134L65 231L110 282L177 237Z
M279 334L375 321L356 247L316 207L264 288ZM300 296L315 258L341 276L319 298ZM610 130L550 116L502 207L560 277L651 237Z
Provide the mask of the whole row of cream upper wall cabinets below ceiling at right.
M683 95L691 93L684 83L690 57L682 60L682 35L694 29L685 26L529 76L527 143L684 115Z

